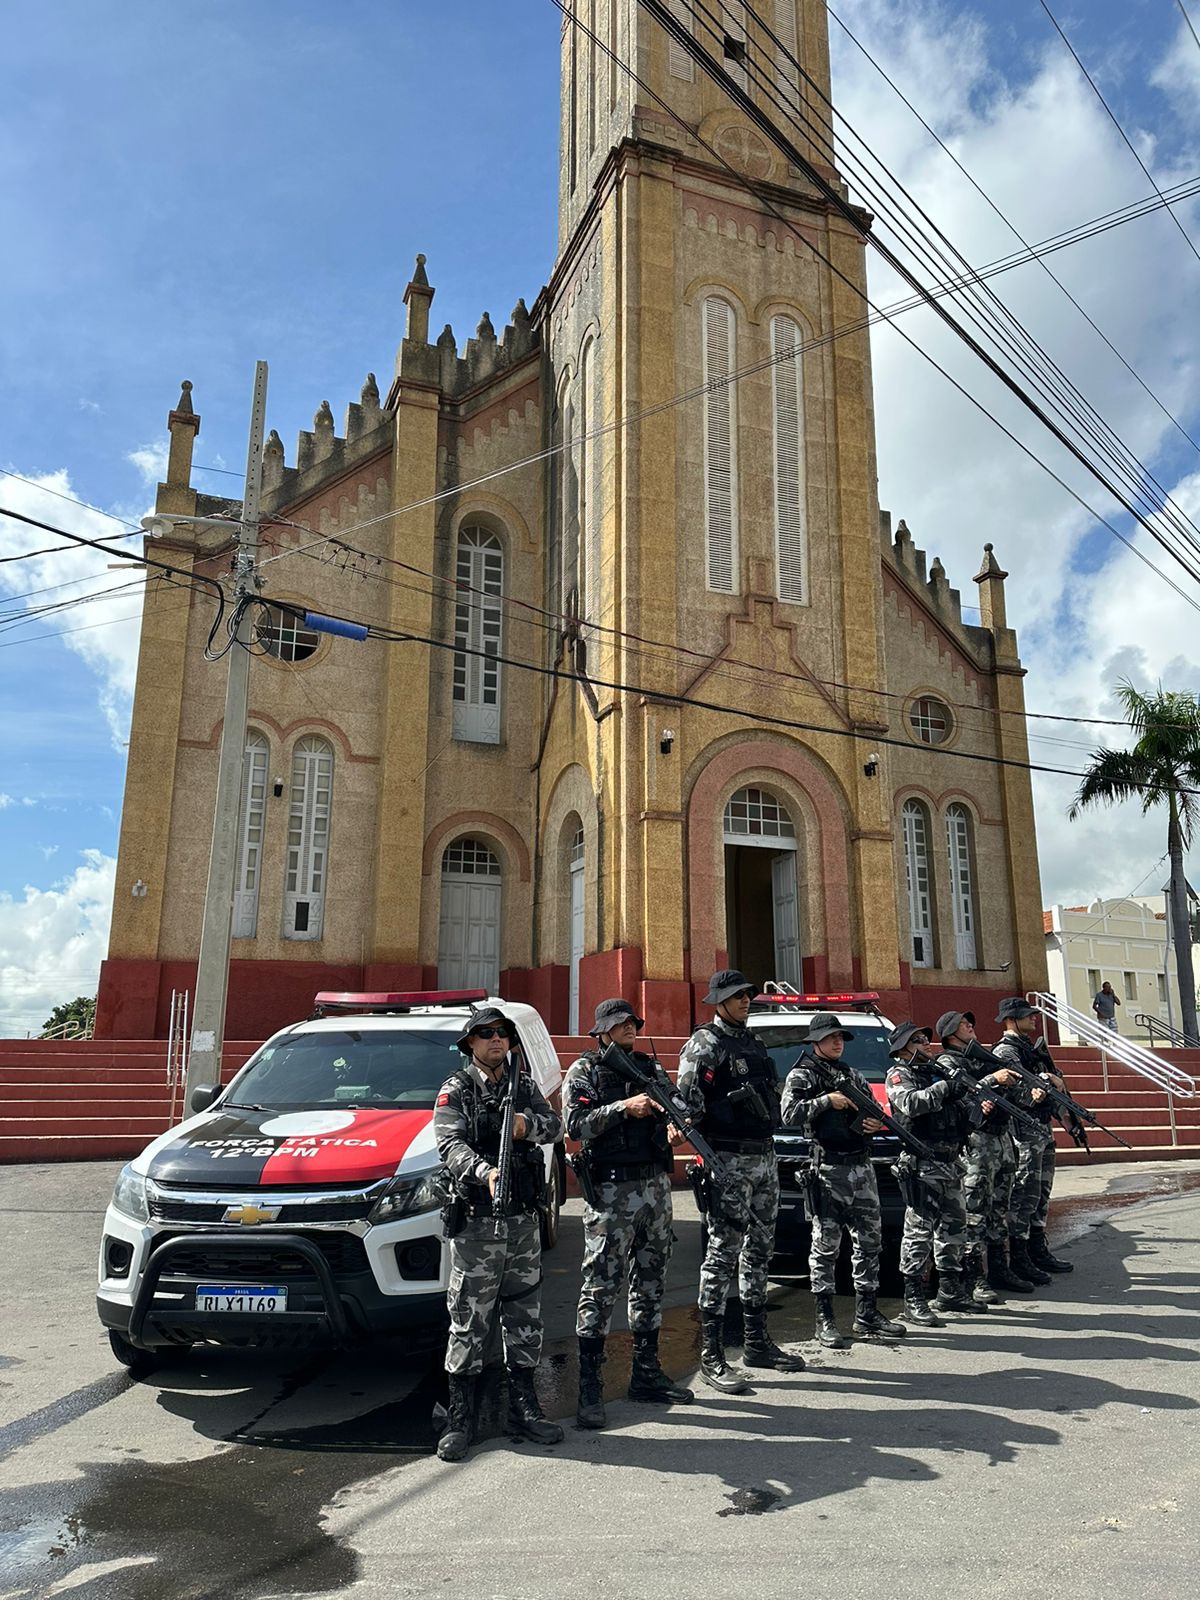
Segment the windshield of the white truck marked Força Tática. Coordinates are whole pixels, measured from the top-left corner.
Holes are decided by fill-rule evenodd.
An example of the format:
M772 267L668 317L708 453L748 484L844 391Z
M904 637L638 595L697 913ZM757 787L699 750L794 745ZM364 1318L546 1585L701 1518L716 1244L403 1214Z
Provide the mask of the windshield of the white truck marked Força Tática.
M226 1104L317 1110L403 1106L432 1110L462 1064L448 1029L290 1034L264 1045L234 1078Z

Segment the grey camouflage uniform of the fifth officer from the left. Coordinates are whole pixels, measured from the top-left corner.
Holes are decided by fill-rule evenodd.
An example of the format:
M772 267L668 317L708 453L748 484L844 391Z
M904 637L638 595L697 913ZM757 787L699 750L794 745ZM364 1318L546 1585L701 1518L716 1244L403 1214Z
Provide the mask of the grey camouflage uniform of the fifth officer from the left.
M915 1184L904 1211L901 1274L920 1278L930 1256L939 1274L962 1270L966 1253L966 1203L958 1144L965 1118L954 1086L933 1064L893 1061L888 1099L898 1122L934 1152L934 1158L902 1155L898 1166Z

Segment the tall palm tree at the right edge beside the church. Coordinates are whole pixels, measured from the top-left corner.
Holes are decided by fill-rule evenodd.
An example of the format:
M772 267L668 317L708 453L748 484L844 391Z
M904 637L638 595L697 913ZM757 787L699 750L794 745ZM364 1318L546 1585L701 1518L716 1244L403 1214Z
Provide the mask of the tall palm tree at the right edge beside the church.
M1166 806L1166 853L1171 858L1171 931L1174 968L1179 976L1179 1003L1184 1034L1200 1038L1195 1026L1195 979L1192 976L1190 917L1184 851L1200 821L1200 701L1195 694L1165 690L1141 694L1131 683L1117 686L1117 699L1136 734L1131 749L1091 754L1067 816L1075 821L1090 805L1117 805L1141 800L1142 811Z

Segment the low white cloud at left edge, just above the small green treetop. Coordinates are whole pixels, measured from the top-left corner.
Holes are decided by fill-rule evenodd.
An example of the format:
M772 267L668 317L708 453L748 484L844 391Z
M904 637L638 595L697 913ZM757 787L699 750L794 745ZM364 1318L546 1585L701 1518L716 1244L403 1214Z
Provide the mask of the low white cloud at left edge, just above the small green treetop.
M50 888L0 894L0 1037L35 1034L61 1002L96 994L115 870L114 856L85 850Z

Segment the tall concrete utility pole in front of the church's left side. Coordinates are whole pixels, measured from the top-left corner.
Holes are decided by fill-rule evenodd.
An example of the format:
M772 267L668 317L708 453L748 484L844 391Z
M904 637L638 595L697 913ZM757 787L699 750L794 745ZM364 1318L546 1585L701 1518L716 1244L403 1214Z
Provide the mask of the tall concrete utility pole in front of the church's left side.
M267 411L267 363L254 368L254 402L250 408L246 486L242 526L234 562L234 605L256 595L258 507L262 488L262 434ZM238 818L242 813L243 768L246 758L246 710L250 704L250 611L242 616L237 642L229 651L226 718L221 725L221 755L216 770L216 810L213 850L208 858L205 920L200 930L200 963L195 974L192 1050L184 1082L184 1107L200 1083L221 1082L221 1051L226 1042L226 998L229 995L229 939L234 920L234 885L238 858Z

